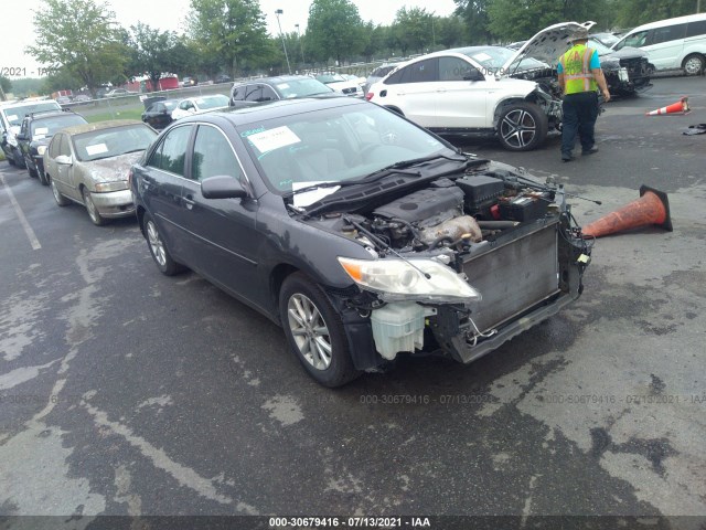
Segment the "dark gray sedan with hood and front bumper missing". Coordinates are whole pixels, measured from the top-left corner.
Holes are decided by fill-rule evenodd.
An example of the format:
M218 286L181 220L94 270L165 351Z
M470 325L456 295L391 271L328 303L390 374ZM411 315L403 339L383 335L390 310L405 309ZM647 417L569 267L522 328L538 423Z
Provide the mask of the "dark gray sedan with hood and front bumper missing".
M356 98L186 117L131 182L158 268L281 325L327 386L489 353L578 298L590 254L563 189Z

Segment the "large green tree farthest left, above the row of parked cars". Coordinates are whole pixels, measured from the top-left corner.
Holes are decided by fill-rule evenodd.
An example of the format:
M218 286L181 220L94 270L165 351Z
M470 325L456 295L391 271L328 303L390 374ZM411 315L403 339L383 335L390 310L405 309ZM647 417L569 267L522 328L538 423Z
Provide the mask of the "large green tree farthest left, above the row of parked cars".
M128 60L115 13L94 0L46 0L34 11L35 44L28 53L52 70L63 68L95 94L122 72Z

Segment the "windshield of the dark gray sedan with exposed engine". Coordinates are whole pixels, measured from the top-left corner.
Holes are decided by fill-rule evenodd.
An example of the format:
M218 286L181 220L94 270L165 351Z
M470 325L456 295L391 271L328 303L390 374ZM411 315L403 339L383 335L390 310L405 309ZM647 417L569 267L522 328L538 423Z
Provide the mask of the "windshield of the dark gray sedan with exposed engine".
M435 136L372 104L274 118L238 132L279 194L362 179L407 160L458 156Z

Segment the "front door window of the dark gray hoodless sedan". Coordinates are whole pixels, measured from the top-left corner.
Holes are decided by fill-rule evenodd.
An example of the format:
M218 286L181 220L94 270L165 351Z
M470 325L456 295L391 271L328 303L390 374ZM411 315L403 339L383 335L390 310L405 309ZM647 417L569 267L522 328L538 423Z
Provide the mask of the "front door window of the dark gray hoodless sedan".
M238 179L245 184L243 170L228 139L215 127L202 125L194 140L191 178L201 181L223 174Z

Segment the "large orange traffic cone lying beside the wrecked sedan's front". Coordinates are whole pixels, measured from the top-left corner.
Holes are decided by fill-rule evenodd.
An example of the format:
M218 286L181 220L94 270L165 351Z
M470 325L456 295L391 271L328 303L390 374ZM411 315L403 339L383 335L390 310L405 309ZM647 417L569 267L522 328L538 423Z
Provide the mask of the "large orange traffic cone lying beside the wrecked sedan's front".
M667 232L672 232L670 201L666 198L666 193L642 186L640 188L640 199L584 226L581 233L584 237L600 237L622 230L644 226L645 224L656 224Z

